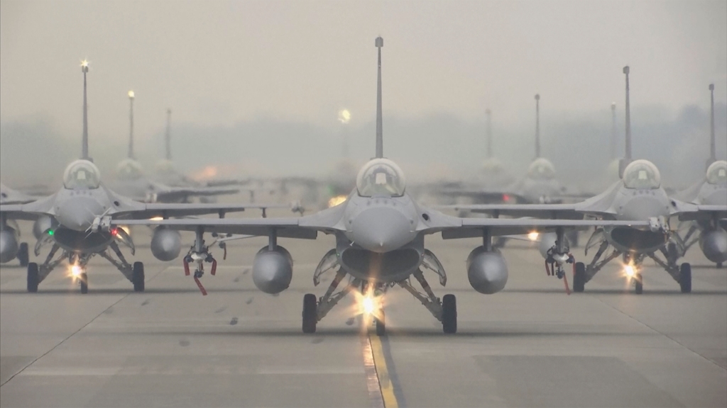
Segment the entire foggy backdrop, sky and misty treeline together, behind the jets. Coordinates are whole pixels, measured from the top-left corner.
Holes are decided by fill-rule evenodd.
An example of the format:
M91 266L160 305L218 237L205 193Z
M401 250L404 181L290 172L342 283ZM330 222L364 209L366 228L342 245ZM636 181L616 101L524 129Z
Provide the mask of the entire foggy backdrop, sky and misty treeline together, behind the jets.
M84 57L90 151L104 176L126 155L129 89L148 171L164 154L167 107L174 161L192 174L323 176L344 137L364 163L379 35L385 155L410 180L478 171L488 107L496 155L523 174L539 93L543 155L563 181L592 187L611 161L611 102L623 152L627 64L635 158L670 186L702 176L708 83L727 155L725 1L2 0L1 178L57 186L79 157Z

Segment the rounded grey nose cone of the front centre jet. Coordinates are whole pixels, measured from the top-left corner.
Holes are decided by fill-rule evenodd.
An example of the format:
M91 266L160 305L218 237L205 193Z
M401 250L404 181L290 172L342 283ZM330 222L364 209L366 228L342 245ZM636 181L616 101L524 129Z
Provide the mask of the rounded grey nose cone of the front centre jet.
M411 221L394 208L369 208L353 219L349 239L362 248L385 253L401 248L416 237Z

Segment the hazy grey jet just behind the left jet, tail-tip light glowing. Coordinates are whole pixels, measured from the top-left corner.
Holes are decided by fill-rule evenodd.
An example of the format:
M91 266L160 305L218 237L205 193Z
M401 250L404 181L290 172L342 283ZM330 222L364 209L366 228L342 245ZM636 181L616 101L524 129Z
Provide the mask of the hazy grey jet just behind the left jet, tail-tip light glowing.
M147 203L189 203L191 197L236 194L236 187L171 187L149 179L134 156L134 91L129 91L129 150L116 166L116 179L108 187L133 200Z

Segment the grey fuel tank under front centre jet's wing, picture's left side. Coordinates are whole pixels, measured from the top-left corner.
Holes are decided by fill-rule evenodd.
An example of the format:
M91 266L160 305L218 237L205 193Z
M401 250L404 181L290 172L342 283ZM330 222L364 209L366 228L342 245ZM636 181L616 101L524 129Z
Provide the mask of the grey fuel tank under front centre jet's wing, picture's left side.
M293 258L288 250L267 246L257 251L252 264L252 282L258 289L270 295L281 293L290 286L293 279Z

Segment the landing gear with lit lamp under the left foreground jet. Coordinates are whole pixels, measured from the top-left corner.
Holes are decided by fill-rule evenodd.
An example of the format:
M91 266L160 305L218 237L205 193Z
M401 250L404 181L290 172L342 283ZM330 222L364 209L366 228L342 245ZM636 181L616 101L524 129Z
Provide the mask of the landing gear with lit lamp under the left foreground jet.
M108 249L98 253L98 255L109 261L113 266L116 266L116 269L119 269L119 271L124 274L124 277L126 277L129 282L132 282L132 284L134 285L134 292L143 292L145 281L144 264L142 264L142 262L134 262L133 265L129 264L129 262L126 261L126 258L124 258L124 254L121 253L119 245L117 245L114 241L112 241L111 244L108 245L108 247L111 248L111 251L113 251L118 260L114 258L111 253L109 253ZM39 265L35 262L28 263L29 293L38 292L38 285L40 284L40 282L43 282L53 269L55 269L58 265L66 260L68 261L68 264L71 265L71 276L74 280L78 280L79 282L79 286L81 287L81 293L88 293L89 285L86 269L88 261L90 261L90 259L95 256L96 253L79 254L69 251L63 251L62 253L60 253L59 256L55 257L59 249L60 246L54 242L43 264ZM39 255L39 250L40 245L36 245L36 256ZM133 253L134 250L132 248L132 255Z

